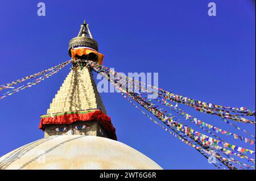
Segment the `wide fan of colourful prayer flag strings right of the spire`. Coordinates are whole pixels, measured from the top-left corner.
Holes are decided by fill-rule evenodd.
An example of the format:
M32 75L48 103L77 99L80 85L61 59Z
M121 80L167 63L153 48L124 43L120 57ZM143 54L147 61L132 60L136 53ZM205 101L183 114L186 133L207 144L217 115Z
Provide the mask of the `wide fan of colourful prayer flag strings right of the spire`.
M236 133L228 132L225 129L221 129L218 127L215 127L214 125L205 123L205 121L201 121L199 119L196 119L195 117L189 115L188 113L181 110L177 103L183 103L188 106L192 106L193 108L196 108L197 111L200 112L206 112L210 114L216 114L218 116L221 116L225 119L225 123L230 124L229 121L226 119L232 119L235 121L240 121L242 123L251 123L255 124L255 121L251 121L249 119L244 119L241 116L255 116L255 111L251 111L246 109L245 107L242 107L240 109L233 108L233 107L224 107L224 106L218 106L214 104L207 104L204 102L200 102L194 99L189 98L183 98L182 96L175 95L174 98L176 99L169 99L167 94L167 91L164 91L162 89L159 89L158 98L159 99L148 99L148 93L145 89L146 86L139 86L139 84L135 84L135 81L129 77L126 77L125 75L121 74L119 76L119 73L116 71L110 71L109 68L106 68L103 65L99 65L95 62L88 61L88 66L90 66L94 71L97 73L100 73L104 78L106 78L110 83L112 83L118 90L121 92L121 94L129 100L130 103L132 103L137 109L139 109L144 115L146 115L151 121L153 121L155 124L161 126L165 131L170 132L173 136L178 137L181 141L187 143L188 145L192 145L193 148L196 148L200 153L203 153L203 155L207 158L214 154L214 157L218 159L218 165L216 164L216 167L222 168L222 165L225 165L229 169L237 169L236 166L232 165L233 163L238 165L241 169L255 169L255 166L248 165L247 163L243 163L241 161L238 161L230 155L234 155L236 157L247 159L247 161L254 163L255 165L255 159L248 157L245 154L255 154L254 150L246 149L241 146L236 146L233 144L229 144L225 140L222 140L220 137L218 137L216 134L210 132L214 131L216 133L221 133L226 136L232 136L234 140L243 140L246 143L255 144L255 136L253 134L250 134L249 132L246 132L244 129L240 127L236 127L237 129L249 133L250 136L254 138L254 140L240 136ZM118 79L111 79L110 77L112 75L118 75ZM121 77L121 78L120 78ZM125 85L133 85L130 86L123 86L122 83ZM142 82L139 82L143 85ZM120 86L122 85L122 86ZM148 86L148 85L147 85ZM150 87L150 86L149 86ZM128 91L131 90L139 90L141 92L133 92ZM136 103L141 105L144 109L146 109L148 112L152 113L155 117L157 117L160 120L160 123L165 124L168 128L164 127L162 124L158 123L154 119L152 119L150 116L147 115L146 112L144 112L141 108L139 108L136 104L131 102L129 99L131 98ZM178 99L177 99L178 98ZM171 100L172 102L175 102L175 106L171 103L167 102L167 100ZM177 119L175 116L172 116L172 113L169 113L168 111L164 110L163 107L159 106L165 105L168 108L170 108L171 111L178 113L181 117L184 118L184 120L189 120L193 124L196 124L201 129L209 133L210 135L213 135L213 137L207 136L206 134L200 133L195 131L193 128L188 127L186 124L182 123ZM238 114L240 113L240 114ZM172 116L172 117L170 117ZM231 123L230 125L232 125ZM233 125L234 126L234 125ZM171 129L171 130L169 130ZM176 134L175 134L176 133ZM227 158L223 157L221 154L226 155Z

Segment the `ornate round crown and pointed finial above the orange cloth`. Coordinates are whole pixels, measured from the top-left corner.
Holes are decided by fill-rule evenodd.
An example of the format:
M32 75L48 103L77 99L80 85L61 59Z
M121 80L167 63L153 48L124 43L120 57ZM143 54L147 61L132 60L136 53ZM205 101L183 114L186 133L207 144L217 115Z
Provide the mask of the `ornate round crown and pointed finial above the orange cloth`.
M90 47L98 51L98 43L92 38L92 34L88 28L88 24L84 20L84 23L80 26L80 31L77 37L74 37L69 41L68 54L71 56L71 49L75 47ZM89 36L88 37L88 32Z

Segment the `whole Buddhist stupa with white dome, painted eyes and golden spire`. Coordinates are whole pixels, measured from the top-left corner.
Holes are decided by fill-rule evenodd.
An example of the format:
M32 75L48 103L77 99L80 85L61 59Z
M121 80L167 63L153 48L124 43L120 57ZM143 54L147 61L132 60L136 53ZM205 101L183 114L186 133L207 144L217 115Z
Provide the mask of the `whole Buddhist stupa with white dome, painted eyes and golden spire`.
M88 24L69 41L72 69L39 128L44 138L3 155L0 169L162 169L139 151L117 141L92 70L86 60L102 64Z

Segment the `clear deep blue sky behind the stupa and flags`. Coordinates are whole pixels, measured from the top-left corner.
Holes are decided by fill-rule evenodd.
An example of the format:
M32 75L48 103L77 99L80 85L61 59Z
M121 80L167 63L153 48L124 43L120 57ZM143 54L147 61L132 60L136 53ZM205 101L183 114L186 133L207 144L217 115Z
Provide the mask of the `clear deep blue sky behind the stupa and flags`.
M158 72L159 87L224 106L255 110L255 4L212 1L5 1L0 6L0 85L69 60L68 42L84 19L123 73ZM217 16L207 14L215 2ZM70 68L70 65L69 65ZM69 68L0 100L0 155L43 137L38 129ZM215 169L201 154L151 123L117 93L101 94L121 141L164 169ZM220 117L185 108L197 118L236 131ZM185 120L184 120L185 123ZM252 125L238 124L255 134ZM197 128L200 131L200 128ZM254 149L255 145L226 140Z

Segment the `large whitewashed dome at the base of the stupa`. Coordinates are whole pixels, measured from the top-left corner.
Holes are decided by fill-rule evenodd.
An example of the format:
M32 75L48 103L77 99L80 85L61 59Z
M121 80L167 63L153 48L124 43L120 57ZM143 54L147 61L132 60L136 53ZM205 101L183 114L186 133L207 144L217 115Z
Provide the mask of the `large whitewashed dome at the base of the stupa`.
M0 158L0 169L162 169L139 151L98 136L42 138Z

